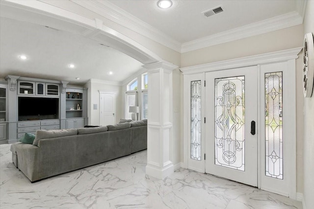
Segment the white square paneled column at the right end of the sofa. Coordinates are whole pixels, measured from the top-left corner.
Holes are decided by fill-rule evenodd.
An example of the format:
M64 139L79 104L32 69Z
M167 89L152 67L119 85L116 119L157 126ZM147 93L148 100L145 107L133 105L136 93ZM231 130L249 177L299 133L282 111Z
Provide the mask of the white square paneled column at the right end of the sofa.
M178 66L157 62L148 70L148 124L146 174L164 179L173 173L172 70Z

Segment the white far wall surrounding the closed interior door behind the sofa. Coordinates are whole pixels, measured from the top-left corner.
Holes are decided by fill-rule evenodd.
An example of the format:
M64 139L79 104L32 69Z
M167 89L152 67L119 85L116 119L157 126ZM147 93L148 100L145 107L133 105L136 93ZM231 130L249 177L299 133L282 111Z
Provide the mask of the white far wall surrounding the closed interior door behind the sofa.
M109 81L90 79L85 87L88 87L88 125L100 125L100 94L99 92L116 93L116 123L119 122L122 115L122 88L120 85L112 85ZM97 110L94 110L94 104L97 104Z

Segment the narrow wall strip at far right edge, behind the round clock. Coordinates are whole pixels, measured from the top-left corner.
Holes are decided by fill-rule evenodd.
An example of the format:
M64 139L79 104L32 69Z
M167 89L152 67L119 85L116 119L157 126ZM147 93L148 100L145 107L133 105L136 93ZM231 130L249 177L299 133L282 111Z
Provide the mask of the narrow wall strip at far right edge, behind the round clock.
M314 33L314 0L308 0L304 17L304 34ZM304 190L305 209L314 206L314 95L304 98Z

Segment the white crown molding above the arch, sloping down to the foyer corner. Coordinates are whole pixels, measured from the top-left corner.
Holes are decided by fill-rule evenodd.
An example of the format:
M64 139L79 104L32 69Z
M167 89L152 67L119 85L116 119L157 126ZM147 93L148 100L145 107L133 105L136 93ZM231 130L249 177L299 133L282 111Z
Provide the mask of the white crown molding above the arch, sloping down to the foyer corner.
M89 9L105 17L106 19L118 23L138 34L141 34L159 44L167 46L177 52L181 52L181 43L172 37L164 34L155 27L145 23L144 21L134 17L130 13L122 10L120 7L106 0L71 0L72 2ZM127 14L127 15L126 15Z

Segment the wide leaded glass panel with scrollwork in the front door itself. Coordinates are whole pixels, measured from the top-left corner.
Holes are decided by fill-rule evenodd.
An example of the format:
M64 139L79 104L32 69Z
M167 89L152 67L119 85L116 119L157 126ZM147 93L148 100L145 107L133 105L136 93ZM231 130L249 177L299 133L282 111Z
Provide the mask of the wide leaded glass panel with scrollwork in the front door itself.
M244 171L244 76L215 79L215 164Z

